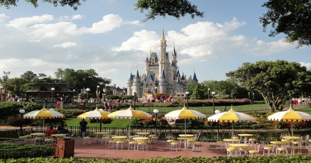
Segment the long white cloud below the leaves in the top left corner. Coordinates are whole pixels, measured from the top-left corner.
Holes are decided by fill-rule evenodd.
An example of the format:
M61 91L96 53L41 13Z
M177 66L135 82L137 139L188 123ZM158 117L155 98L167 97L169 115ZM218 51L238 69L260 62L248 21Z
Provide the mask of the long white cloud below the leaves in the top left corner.
M41 15L41 16L32 16L32 17L21 17L11 20L7 26L15 28L26 28L27 25L44 23L53 20L53 15Z

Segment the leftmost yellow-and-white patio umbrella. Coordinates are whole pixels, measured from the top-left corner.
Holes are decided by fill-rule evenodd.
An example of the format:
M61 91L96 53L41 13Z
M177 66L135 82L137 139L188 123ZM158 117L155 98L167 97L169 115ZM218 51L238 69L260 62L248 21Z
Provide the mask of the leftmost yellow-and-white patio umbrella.
M45 107L41 110L29 112L23 116L24 118L43 118L43 133L44 133L44 119L45 118L63 118L64 115L60 112L54 111L53 108L47 110Z

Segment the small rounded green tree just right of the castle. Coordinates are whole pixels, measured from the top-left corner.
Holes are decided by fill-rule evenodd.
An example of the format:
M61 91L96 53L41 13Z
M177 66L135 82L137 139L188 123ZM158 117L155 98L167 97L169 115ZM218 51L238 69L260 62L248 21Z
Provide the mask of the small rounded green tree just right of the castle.
M190 98L194 99L205 99L205 93L207 92L207 88L202 83L190 83L188 84L186 91L189 92ZM195 93L196 95L192 94Z

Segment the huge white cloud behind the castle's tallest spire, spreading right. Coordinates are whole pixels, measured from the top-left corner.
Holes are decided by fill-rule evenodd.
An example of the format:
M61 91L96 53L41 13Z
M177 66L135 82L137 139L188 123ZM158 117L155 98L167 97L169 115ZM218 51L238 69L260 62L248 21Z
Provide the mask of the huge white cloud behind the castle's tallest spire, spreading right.
M232 31L245 25L235 17L223 24L214 22L197 22L181 29L181 32L168 31L165 36L167 50L173 51L173 42L179 53L180 63L195 61L209 61L218 59L222 54L271 55L286 51L294 45L278 40L265 42L256 38L247 38L243 35L234 35ZM149 47L156 47L160 43L160 35L154 31L141 30L134 32L133 36L122 42L113 51L138 51L140 55L146 54ZM156 49L158 50L158 47Z

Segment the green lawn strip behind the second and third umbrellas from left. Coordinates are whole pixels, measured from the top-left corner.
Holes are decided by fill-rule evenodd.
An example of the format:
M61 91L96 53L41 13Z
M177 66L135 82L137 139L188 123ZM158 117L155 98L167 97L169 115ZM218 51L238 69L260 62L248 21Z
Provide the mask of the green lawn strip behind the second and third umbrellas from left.
M71 118L66 121L68 126L80 126L79 122L81 119L77 118ZM88 127L96 127L96 123L90 123L89 119L86 119L87 121L87 126ZM100 124L98 123L98 126ZM126 119L120 119L120 118L114 118L114 121L112 121L110 124L102 124L102 127L122 127L122 128L127 128L129 125L128 118Z

